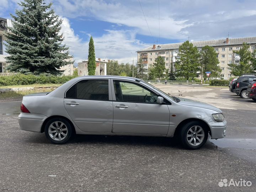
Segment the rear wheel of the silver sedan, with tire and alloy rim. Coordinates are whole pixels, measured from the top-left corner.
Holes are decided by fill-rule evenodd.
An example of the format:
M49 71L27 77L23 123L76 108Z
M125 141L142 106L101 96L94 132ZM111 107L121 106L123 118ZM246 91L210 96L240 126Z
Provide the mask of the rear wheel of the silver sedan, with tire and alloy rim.
M72 128L65 119L52 118L46 123L44 133L53 144L64 144L72 135Z

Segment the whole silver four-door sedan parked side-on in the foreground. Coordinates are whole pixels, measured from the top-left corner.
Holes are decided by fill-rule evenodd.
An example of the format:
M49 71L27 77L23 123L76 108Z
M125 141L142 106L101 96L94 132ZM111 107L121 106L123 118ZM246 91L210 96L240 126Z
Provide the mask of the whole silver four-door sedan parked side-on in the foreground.
M20 128L45 132L54 144L72 133L178 137L188 149L225 136L222 111L121 76L82 76L52 92L23 97Z

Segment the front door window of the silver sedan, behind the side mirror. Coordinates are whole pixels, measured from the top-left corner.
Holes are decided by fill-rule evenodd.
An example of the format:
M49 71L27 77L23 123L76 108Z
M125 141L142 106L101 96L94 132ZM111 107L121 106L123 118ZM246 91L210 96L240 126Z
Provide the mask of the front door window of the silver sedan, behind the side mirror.
M136 103L157 103L158 95L142 85L127 81L113 80L117 101Z

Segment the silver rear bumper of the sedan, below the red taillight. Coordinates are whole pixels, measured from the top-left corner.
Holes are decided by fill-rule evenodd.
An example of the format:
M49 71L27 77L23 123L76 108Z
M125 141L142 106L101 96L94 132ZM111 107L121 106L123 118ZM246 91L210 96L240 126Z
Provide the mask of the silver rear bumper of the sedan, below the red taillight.
M22 130L41 132L42 124L46 118L47 116L43 114L20 113L18 116L18 123Z

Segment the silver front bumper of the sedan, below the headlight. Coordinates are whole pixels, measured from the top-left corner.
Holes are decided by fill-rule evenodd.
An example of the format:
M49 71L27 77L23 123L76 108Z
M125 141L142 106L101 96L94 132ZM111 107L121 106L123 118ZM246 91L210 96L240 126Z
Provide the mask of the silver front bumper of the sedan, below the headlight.
M226 120L224 120L223 122L212 121L208 124L210 126L212 139L220 139L226 136Z

